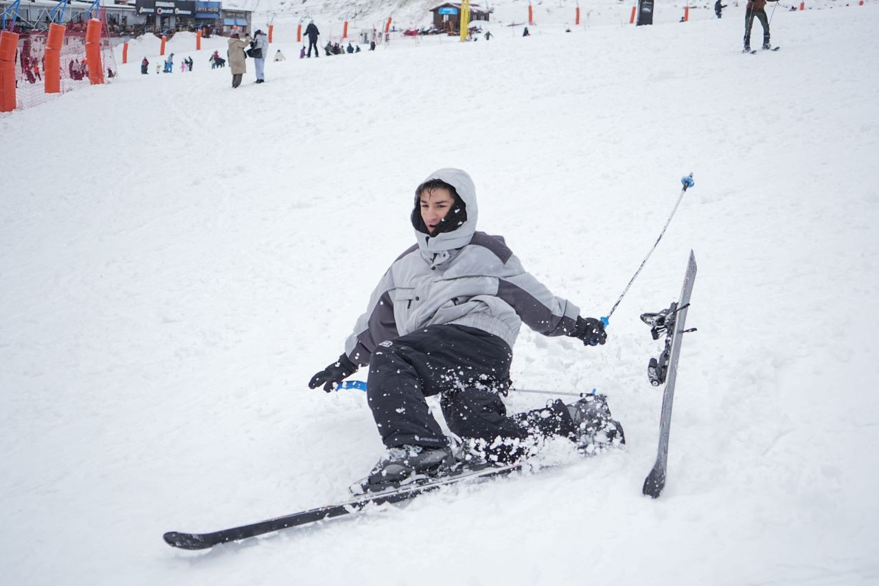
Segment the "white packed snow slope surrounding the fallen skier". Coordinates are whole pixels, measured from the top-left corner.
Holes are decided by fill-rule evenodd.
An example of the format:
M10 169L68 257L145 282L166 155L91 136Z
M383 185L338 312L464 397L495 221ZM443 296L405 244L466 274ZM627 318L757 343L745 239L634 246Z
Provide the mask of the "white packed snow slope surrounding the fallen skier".
M879 581L879 9L778 11L783 47L758 55L741 10L288 59L261 85L249 62L237 90L207 68L222 40L178 35L193 73L141 76L143 45L113 84L0 118L4 583ZM363 393L306 384L443 166L473 176L479 227L591 316L694 173L606 346L524 328L515 348L521 388L606 393L628 450L556 442L545 472L166 546L343 500L379 458ZM638 316L678 297L691 249L698 332L652 501L660 345Z

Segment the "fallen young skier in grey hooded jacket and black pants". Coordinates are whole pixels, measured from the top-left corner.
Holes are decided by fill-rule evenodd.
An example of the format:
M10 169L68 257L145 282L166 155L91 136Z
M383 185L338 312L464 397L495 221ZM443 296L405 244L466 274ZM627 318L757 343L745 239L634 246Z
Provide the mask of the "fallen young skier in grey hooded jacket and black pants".
M415 190L416 245L391 264L345 352L309 381L333 386L369 365L367 401L387 452L355 492L412 474L439 474L525 458L549 436L584 453L625 443L602 395L507 415L512 346L522 322L547 336L604 344L604 324L555 297L505 244L476 231L476 188L460 169L433 172ZM425 397L439 395L443 435Z

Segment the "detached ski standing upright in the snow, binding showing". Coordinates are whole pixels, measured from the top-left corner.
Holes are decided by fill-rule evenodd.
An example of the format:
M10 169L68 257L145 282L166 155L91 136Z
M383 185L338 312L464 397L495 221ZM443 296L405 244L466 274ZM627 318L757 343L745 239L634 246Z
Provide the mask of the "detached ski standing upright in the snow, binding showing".
M658 313L645 313L641 319L650 326L650 333L654 340L665 335L665 349L658 358L650 358L647 374L650 384L654 386L665 383L665 391L662 398L662 414L659 419L659 446L657 459L650 470L650 474L644 479L643 494L651 498L657 498L665 487L665 470L668 462L668 436L672 426L672 402L674 401L674 384L678 377L678 356L680 344L684 333L693 332L685 330L686 310L690 305L690 295L693 292L693 282L696 278L696 257L690 251L690 258L686 263L686 275L684 285L680 290L678 303L672 303L667 310Z

